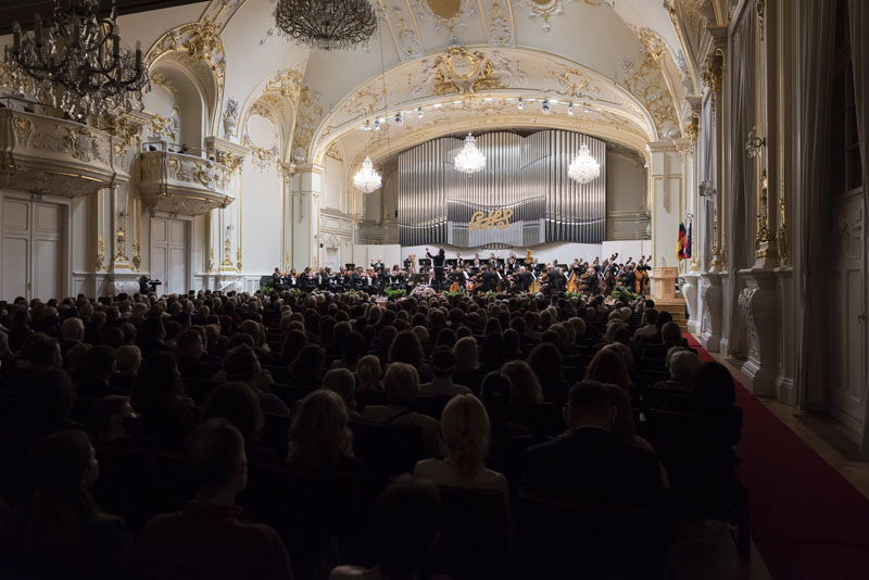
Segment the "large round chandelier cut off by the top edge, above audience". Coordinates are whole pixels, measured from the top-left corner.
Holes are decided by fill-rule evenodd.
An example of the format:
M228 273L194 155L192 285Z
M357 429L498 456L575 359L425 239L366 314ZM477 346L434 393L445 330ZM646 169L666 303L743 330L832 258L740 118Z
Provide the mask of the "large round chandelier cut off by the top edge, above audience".
M368 0L278 0L275 23L297 42L323 50L355 47L377 29Z

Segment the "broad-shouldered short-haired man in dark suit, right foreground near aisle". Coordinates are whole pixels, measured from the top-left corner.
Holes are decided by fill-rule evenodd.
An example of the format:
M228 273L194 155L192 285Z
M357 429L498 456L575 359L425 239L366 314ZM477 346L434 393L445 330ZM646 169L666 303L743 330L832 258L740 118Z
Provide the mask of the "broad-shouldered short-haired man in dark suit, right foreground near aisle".
M521 491L577 504L647 507L662 524L667 496L654 453L612 433L616 407L596 381L570 389L567 431L525 453Z

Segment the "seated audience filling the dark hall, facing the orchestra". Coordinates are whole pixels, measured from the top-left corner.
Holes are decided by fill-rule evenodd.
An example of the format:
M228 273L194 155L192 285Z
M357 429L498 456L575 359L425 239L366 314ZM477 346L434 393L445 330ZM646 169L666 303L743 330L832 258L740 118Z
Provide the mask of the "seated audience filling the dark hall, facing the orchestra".
M496 490L507 513L513 491L646 507L664 522L684 466L658 461L656 450L671 459L650 413L700 417L726 444L741 434L729 371L700 365L685 346L650 301L603 297L377 303L364 293L190 292L0 303L0 451L10 466L0 476L0 570L36 562L39 521L62 524L40 549L76 534L60 559L39 562L68 564L76 577L289 578L292 554L303 578L347 563L365 566L339 566L333 578L429 578L441 571L427 568L434 486L451 497ZM123 520L88 500L93 449L103 463L93 496ZM32 450L42 476L27 495L21 471ZM252 484L241 493L248 462ZM411 470L415 478L396 477ZM338 481L353 483L336 494ZM191 492L182 512L154 518ZM236 502L259 524L240 520ZM142 529L135 547L124 522ZM520 541L513 551L521 550Z

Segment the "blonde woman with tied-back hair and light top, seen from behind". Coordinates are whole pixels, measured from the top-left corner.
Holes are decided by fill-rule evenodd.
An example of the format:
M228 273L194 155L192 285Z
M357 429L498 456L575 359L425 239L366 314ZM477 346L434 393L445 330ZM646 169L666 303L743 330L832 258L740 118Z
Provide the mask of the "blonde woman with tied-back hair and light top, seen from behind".
M507 479L486 468L489 452L489 415L473 394L455 395L441 415L441 433L449 454L445 459L424 459L414 476L440 487L499 490L509 500Z

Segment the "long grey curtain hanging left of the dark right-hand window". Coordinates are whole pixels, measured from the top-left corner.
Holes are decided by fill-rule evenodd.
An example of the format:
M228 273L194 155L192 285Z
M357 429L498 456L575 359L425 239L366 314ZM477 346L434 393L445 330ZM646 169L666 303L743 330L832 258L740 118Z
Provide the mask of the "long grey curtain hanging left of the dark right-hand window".
M860 3L862 0L854 3ZM835 2L794 0L793 38L793 191L795 203L796 384L797 405L817 407L823 402L828 324L823 263L828 237L824 207L828 199L829 111L832 94ZM855 71L857 63L855 62Z

